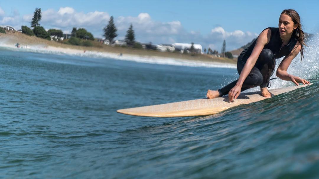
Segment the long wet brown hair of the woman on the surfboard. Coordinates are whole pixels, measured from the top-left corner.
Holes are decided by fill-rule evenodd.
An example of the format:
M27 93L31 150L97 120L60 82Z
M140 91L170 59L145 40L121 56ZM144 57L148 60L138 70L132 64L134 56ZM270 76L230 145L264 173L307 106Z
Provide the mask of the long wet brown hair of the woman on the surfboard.
M289 17L291 17L293 19L293 24L297 25L297 29L293 30L293 35L298 39L298 42L301 45L300 53L301 53L301 61L302 61L303 51L304 51L303 46L306 45L306 44L304 42L305 34L302 31L302 27L301 27L301 23L300 23L300 16L299 16L298 12L293 10L293 9L285 9L285 10L283 10L281 12L281 14L286 14Z

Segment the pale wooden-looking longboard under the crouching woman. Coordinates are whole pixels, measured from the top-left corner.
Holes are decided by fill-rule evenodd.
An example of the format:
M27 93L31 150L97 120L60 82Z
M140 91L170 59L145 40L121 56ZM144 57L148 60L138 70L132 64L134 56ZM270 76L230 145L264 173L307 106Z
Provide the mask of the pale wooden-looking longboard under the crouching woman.
M310 84L311 85L311 84ZM279 89L272 89L271 96L293 91L309 85L290 86ZM119 109L116 112L134 116L146 117L188 117L206 116L217 114L231 107L241 104L248 104L267 99L261 96L260 92L241 93L236 100L229 102L228 95L214 99L197 99L180 101L167 104L159 104L128 109Z

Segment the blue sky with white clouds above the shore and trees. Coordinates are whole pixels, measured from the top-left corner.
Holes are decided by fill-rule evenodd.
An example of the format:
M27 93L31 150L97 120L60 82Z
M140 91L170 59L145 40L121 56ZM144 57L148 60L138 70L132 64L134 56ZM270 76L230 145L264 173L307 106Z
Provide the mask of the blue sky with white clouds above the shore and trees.
M189 1L189 0L55 0L0 1L0 25L30 27L35 8L41 8L41 26L70 33L85 28L94 37L103 37L103 28L114 16L118 37L133 24L136 40L153 44L191 43L204 48L231 51L256 38L267 27L278 27L284 9L296 10L303 30L319 32L319 1Z

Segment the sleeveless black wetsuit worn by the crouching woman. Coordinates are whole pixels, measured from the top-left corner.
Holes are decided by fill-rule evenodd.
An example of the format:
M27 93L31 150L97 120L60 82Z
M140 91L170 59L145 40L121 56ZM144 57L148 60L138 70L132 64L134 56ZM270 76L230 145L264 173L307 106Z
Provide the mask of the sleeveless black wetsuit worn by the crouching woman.
M266 29L271 30L270 41L267 45L263 47L263 50L260 53L255 66L252 68L249 75L242 84L241 91L247 90L255 86L267 87L269 79L275 70L276 59L288 55L293 50L293 47L296 45L298 41L295 35L292 35L292 37L289 40L289 43L281 47L282 40L279 35L279 28L268 27ZM239 55L237 60L237 71L239 74L241 73L241 70L244 68L247 59L251 55L251 52L253 51L256 45L256 41L257 39ZM237 81L238 80L235 80L232 83L226 85L225 87L219 89L219 93L222 96L228 94L228 92L236 85Z

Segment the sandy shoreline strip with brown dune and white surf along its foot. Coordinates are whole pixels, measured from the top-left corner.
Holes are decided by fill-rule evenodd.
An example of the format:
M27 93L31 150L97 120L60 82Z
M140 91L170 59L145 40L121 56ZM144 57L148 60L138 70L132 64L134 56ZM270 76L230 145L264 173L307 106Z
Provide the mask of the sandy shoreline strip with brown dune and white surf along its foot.
M162 65L236 68L236 60L218 57L211 58L209 57L210 55L206 54L191 56L189 54L112 47L107 45L103 45L101 48L75 46L55 41L48 41L34 36L31 37L19 32L0 34L0 40L0 46L8 48L8 50L17 49L15 45L19 43L22 48L18 48L17 50L25 52L65 54L93 58L112 58Z

